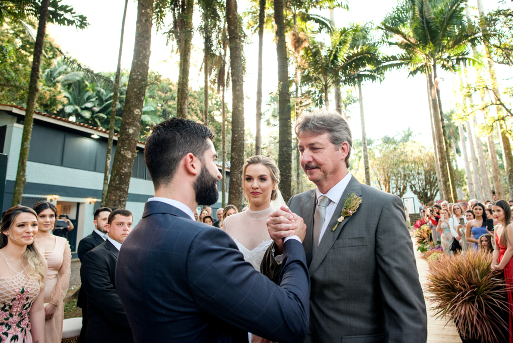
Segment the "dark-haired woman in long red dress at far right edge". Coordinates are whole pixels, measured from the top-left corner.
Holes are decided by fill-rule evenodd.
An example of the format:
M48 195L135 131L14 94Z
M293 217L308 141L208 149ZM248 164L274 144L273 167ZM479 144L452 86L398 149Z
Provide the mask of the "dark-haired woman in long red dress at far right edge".
M497 201L492 207L494 217L499 221L495 229L494 260L492 271L504 271L504 279L508 285L509 303L509 343L513 343L513 223L511 223L511 208L504 200Z

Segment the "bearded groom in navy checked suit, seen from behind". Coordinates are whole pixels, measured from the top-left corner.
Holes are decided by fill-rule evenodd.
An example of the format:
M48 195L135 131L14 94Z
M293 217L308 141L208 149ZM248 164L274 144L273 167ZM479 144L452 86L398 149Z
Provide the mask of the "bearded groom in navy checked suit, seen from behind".
M248 342L252 333L303 341L310 279L302 219L287 214L295 236L284 243L280 285L245 262L224 231L194 221L193 210L219 196L212 138L206 126L172 118L155 126L146 143L155 197L116 265L116 290L134 340Z

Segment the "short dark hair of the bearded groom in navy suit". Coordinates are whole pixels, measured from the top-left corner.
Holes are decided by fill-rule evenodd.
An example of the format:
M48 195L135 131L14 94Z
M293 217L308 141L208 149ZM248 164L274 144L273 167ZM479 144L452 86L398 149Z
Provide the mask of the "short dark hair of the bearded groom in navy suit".
M171 182L185 155L191 153L203 162L207 138L213 137L205 125L183 118L171 118L155 126L144 149L155 189Z

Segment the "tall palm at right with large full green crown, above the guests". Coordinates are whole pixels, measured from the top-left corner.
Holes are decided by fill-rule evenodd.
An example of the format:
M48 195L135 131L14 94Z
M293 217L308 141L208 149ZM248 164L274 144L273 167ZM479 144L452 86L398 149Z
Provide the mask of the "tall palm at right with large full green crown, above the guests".
M467 45L475 45L479 32L469 27L465 20L466 0L416 0L405 2L395 8L381 24L389 37L390 45L401 48L404 53L389 60L392 66L408 66L410 74L423 72L427 75L429 96L435 117L435 133L442 185L445 197L457 200L455 174L450 163L447 135L438 88L439 66L455 71L461 61L468 58ZM394 61L393 61L394 60Z

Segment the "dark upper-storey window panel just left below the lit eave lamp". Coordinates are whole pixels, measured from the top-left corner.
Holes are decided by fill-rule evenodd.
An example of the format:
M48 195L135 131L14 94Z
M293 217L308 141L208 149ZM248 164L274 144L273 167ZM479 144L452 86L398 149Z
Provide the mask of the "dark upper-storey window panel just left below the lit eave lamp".
M66 134L63 166L94 171L97 144L95 140Z

